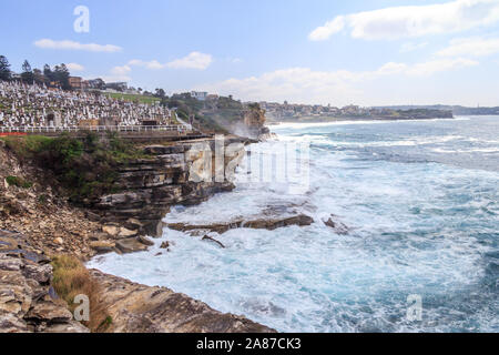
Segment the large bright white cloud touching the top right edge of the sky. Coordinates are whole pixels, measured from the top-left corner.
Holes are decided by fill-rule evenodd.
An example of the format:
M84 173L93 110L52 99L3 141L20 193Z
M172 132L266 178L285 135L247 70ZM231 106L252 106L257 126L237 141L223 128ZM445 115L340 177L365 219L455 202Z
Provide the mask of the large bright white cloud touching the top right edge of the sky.
M349 30L353 38L366 40L417 38L465 31L498 21L498 0L456 0L338 16L316 28L308 38L324 41L344 30Z

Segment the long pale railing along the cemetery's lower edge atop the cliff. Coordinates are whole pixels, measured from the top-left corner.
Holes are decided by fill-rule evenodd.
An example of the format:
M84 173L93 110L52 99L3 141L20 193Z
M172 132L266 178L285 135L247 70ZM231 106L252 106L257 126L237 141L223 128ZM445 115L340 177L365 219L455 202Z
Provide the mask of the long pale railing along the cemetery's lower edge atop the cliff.
M63 132L179 132L192 131L191 125L93 125L93 126L0 126L0 133Z

